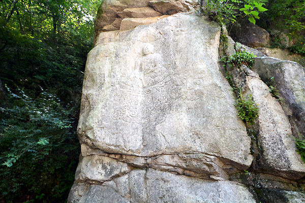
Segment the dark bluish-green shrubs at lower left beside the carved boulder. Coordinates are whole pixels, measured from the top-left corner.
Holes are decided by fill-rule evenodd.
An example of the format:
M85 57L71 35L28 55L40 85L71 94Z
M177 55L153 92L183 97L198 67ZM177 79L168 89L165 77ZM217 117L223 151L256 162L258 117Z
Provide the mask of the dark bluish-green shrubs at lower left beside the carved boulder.
M37 98L20 89L8 92L7 108L0 109L0 194L7 202L20 198L23 190L36 199L31 202L67 198L79 153L77 135L71 130L76 107L63 107L58 97L43 89ZM36 198L42 194L42 199Z

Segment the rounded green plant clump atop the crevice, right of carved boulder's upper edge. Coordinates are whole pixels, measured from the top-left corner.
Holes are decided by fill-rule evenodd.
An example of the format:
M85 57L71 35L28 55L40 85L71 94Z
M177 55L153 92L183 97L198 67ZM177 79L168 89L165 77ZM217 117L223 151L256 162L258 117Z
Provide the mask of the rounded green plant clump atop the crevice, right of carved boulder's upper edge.
M246 65L251 69L254 63L254 55L253 53L248 53L243 50L237 51L232 56L228 57L227 63L231 67L240 67L240 65Z

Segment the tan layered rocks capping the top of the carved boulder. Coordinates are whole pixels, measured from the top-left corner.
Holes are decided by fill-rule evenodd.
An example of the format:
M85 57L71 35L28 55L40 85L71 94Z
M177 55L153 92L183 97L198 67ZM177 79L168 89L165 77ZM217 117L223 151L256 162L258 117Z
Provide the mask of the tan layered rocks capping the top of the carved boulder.
M124 18L146 18L195 11L198 5L196 0L104 0L95 19L95 42L99 33L120 29L120 22Z

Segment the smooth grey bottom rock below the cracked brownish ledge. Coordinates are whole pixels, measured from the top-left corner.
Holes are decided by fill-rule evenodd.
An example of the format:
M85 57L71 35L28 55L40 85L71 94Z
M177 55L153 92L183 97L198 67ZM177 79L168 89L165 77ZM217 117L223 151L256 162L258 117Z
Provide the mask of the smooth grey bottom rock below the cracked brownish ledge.
M71 191L69 202L256 202L242 184L206 181L152 169L134 170L102 185L75 184Z

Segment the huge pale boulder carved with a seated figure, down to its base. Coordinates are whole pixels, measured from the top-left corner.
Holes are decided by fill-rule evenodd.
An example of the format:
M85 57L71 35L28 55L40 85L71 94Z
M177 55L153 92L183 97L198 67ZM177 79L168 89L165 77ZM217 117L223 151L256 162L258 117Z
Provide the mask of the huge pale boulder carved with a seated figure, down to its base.
M231 202L254 202L245 186L227 182L230 174L247 170L253 157L218 64L220 27L196 15L176 14L110 33L100 33L88 54L78 126L82 154L70 202L109 201L117 189L92 184L108 184L134 167L153 168L157 171L148 171L177 181L157 187L163 179L140 180L135 184L143 185L148 196L137 188L134 197L115 194L115 201L163 202L159 197L165 195L185 202L216 187L219 192L202 193L202 201L223 201L218 195L223 193ZM187 192L176 188L178 182Z

